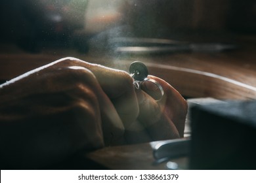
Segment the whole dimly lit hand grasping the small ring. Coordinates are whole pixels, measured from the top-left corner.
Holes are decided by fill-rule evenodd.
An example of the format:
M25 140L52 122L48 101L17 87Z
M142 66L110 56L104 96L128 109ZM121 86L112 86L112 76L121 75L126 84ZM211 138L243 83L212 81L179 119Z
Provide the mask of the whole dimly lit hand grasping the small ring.
M164 80L148 77L163 87L160 101L156 88L135 89L125 71L76 58L2 84L0 163L37 168L78 150L183 137L186 101Z

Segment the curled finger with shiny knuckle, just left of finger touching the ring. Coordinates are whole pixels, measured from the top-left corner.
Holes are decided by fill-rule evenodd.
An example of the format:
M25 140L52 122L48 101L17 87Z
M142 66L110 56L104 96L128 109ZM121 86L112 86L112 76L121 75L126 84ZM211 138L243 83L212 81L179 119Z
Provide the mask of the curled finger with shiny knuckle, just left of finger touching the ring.
M105 145L123 144L124 127L123 122L117 114L116 108L110 101L108 95L102 90L102 87L98 83L98 79L95 77L91 70L85 67L64 67L65 75L62 71L62 78L65 78L64 84L67 84L67 80L73 82L76 88L82 88L85 90L85 95L89 97L95 97L100 113L96 118L100 119L102 125L102 131L104 135ZM91 91L88 93L88 90ZM76 90L73 90L73 97L80 98L76 95Z

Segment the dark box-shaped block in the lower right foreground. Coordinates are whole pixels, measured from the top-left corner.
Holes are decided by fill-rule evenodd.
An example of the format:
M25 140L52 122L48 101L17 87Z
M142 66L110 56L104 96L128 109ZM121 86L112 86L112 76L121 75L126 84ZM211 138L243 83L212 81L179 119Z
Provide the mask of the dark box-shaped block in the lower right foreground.
M256 169L256 102L192 107L190 169Z

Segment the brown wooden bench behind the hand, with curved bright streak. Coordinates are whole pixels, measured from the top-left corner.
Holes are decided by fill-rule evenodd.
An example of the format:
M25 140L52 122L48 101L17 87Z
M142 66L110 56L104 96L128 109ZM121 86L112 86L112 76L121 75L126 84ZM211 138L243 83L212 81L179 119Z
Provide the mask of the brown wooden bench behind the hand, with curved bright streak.
M2 45L0 80L10 80L26 71L66 56L128 71L132 61L143 61L151 75L167 80L186 97L217 99L256 98L256 37L242 37L238 48L229 52L175 53L158 56L110 56L91 52L51 48L39 54L22 52L13 45Z

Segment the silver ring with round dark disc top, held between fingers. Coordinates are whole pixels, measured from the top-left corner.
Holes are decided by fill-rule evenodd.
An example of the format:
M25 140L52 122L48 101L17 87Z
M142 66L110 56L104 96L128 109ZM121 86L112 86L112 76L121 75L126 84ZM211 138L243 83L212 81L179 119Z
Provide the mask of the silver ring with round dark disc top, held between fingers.
M158 96L154 98L156 99L156 101L161 100L164 95L163 88L159 82L154 79L148 78L148 68L146 67L146 65L144 65L144 63L140 61L134 61L129 67L129 73L133 78L133 84L136 89L142 88L142 82L151 82L158 88L158 92L156 91L156 93L158 93Z

